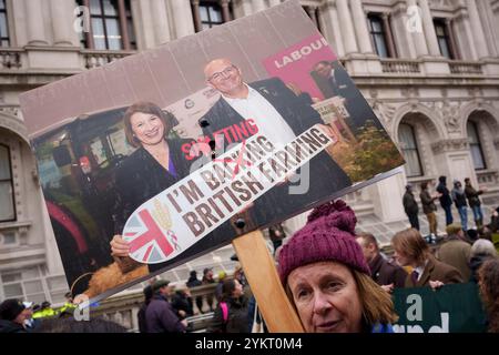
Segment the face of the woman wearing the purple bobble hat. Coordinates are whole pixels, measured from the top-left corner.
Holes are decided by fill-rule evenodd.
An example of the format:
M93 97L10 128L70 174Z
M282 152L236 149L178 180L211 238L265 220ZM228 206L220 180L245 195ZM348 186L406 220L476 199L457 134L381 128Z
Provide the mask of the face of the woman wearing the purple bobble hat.
M361 305L350 270L336 262L295 268L287 278L307 333L359 333Z

